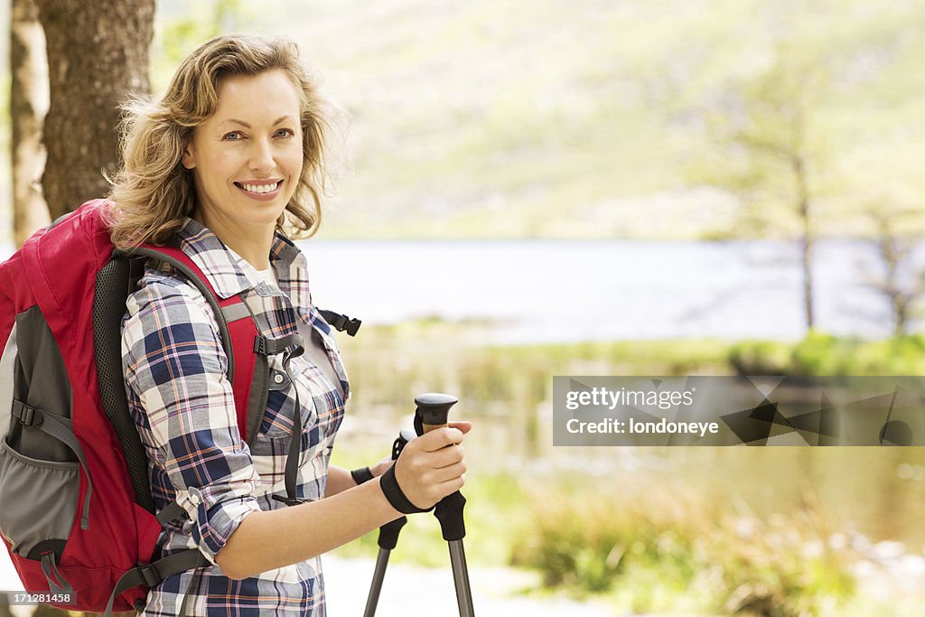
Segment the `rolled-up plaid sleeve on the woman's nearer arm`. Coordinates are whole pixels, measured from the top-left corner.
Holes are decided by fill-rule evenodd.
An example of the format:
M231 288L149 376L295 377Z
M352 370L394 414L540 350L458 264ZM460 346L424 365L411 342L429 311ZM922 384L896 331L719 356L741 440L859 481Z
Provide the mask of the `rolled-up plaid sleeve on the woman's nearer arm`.
M193 541L215 562L244 517L260 508L211 308L175 279L149 283L128 308L122 362L129 407L190 515Z

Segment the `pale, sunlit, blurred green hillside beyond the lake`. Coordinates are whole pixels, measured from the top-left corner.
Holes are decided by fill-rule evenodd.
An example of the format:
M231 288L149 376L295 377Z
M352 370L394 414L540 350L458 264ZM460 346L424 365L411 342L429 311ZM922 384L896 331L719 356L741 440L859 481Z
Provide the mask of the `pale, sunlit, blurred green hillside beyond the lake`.
M918 2L162 0L155 87L216 4L220 30L299 41L349 117L326 238L792 236L785 200L755 216L709 173L739 163L714 120L783 47L827 76L803 136L820 232L925 211Z

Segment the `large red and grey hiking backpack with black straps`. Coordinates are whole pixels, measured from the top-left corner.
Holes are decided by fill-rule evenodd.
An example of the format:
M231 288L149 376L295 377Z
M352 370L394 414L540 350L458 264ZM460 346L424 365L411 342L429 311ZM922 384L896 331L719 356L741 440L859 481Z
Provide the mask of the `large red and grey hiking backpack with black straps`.
M293 343L261 337L240 296L218 298L179 249L114 250L104 206L83 204L0 264L0 536L27 592L94 612L139 610L149 587L209 565L198 549L152 562L163 525L185 512L174 502L154 515L122 374L121 322L144 261L166 261L212 305L242 439L263 415L251 390L266 389L267 350ZM351 336L359 327L321 313Z

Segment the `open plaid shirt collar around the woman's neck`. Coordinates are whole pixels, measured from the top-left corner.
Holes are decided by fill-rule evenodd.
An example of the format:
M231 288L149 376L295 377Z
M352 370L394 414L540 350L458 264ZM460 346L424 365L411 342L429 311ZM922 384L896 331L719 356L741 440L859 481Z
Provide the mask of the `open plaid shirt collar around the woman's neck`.
M187 218L177 238L179 249L200 267L219 298L224 300L247 290L257 290L261 295L268 293L253 265L229 249L199 221ZM308 290L305 255L292 241L275 232L269 258L277 275L279 289L289 296L294 306L302 309L300 314L310 313L312 297Z

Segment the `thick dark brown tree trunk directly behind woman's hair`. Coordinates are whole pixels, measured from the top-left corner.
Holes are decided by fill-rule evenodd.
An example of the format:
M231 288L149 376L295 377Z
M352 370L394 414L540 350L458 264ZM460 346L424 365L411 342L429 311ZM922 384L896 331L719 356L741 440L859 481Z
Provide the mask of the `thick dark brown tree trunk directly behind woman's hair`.
M42 176L52 218L102 197L118 167L118 105L148 93L154 0L36 0L51 103Z

